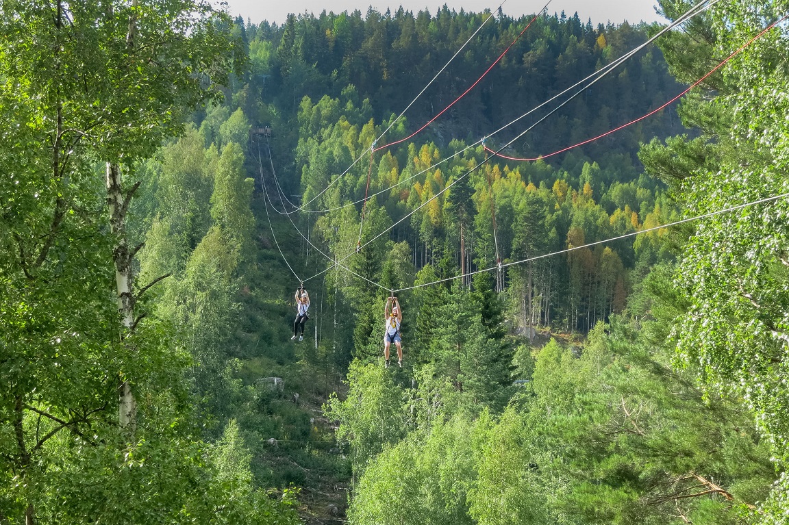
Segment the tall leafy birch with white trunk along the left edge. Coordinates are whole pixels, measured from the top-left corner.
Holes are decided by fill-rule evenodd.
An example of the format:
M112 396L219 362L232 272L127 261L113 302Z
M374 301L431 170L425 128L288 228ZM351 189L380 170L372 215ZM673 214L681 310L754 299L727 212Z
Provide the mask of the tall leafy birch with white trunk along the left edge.
M0 2L6 516L36 523L62 434L80 447L118 444L104 434L111 397L115 421L133 436L132 379L167 369L158 341L130 337L148 285L134 288L139 247L126 229L139 184L123 174L179 132L197 103L220 95L234 56L228 30L203 2Z

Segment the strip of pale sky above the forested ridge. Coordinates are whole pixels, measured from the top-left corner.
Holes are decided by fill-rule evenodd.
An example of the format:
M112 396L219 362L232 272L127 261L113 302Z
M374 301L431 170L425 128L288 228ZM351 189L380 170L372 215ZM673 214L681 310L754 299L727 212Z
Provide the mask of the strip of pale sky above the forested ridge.
M414 13L429 9L432 14L447 4L449 9L460 11L461 8L467 12L479 13L484 9L495 11L499 5L502 10L510 17L519 17L523 14L533 14L544 6L548 0L225 0L228 11L234 17L241 15L246 21L251 20L253 24L260 24L263 20L271 23L282 24L288 13L314 13L320 15L323 9L327 12L342 13L343 11L352 12L359 9L362 16L367 13L368 7L372 6L380 13L385 13L387 7L396 11L400 6L403 9L411 10ZM591 18L593 24L606 23L611 21L621 24L624 20L631 23L666 21L659 17L655 12L657 0L552 0L548 6L548 13L561 13L564 10L567 16L572 16L576 11L578 17L585 22Z

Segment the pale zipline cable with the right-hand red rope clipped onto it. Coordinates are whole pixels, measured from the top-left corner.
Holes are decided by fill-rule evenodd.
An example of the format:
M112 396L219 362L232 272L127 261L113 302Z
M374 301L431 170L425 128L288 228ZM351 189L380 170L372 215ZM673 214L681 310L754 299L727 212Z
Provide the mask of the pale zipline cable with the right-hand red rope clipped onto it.
M576 84L573 84L572 86L567 87L567 89L565 89L564 91L561 91L560 93L554 95L552 98L546 100L545 102L542 102L539 106L534 107L533 109L527 111L525 114L522 114L520 117L518 117L518 118L514 119L513 121L510 121L509 123L503 125L499 129L497 129L494 132L492 132L490 135L488 135L486 137L483 137L481 140L477 140L477 142L475 142L473 144L470 144L469 146L463 148L461 151L456 151L453 155L450 155L449 157L444 158L444 159L440 160L439 162L436 162L436 164L428 167L427 169L423 169L421 172L416 173L416 174L412 175L411 177L403 179L402 181L398 181L396 184L391 185L389 188L384 188L383 190L380 190L380 192L373 193L371 196L375 197L375 196L380 195L380 194L382 194L384 192L388 192L388 191L390 191L393 188L397 188L400 184L404 184L404 183L406 183L408 181L411 181L414 178L419 177L420 175L422 175L424 173L427 173L430 169L433 169L436 166L440 166L444 162L450 161L452 158L455 158L458 155L461 155L462 153L468 151L469 149L471 149L473 147L476 147L477 145L479 145L481 143L484 143L484 141L487 138L489 138L491 136L494 136L495 134L497 134L499 132L502 132L504 129L510 127L511 125L514 125L516 122L520 121L522 118L525 118L525 117L529 116L530 114L533 114L535 111L540 110L540 108L548 105L548 103L553 102L555 99L558 99L562 95L567 94L568 91L574 89L575 87L578 87L579 85L583 84L587 80L593 79L595 76L602 77L602 76L608 75L609 73L611 73L611 71L613 69L615 69L617 66L621 65L624 61L629 60L634 54L637 54L638 51L644 49L646 46L648 46L649 44L653 43L656 39L660 38L660 36L664 35L666 32L668 32L671 29L679 26L680 24L683 24L684 22L686 22L686 20L690 19L691 17L695 17L697 14L703 13L705 10L707 10L710 7L714 6L717 2L720 2L720 0L702 0L701 2L697 3L695 6L690 8L686 13L682 14L682 16L678 17L676 20L671 22L671 24L668 24L665 28L661 29L660 32L657 32L655 35L653 35L653 37L650 38L649 40L647 40L645 43L642 43L638 47L635 47L633 50L628 51L626 54L623 54L621 57L617 58L615 61L611 61L609 64L604 65L602 68L598 69L594 73L591 73L589 76L586 76L585 79L579 80ZM600 80L600 79L597 79L597 80ZM594 82L596 82L596 80ZM580 95L580 93L582 91L585 91L585 89L587 89L592 84L594 84L594 82L586 85L585 87L582 87L581 90L578 91L578 93L576 95L574 95L574 96ZM310 202L312 202L312 201L310 201ZM298 210L304 211L306 213L327 213L327 212L331 212L331 211L342 210L343 208L346 208L346 207L355 206L356 204L361 203L361 202L362 202L362 200L360 199L360 200L354 201L352 203L346 203L346 204L343 204L342 206L333 207L333 208L327 208L327 209L324 209L324 210L305 210L304 207L301 207ZM306 204L305 204L305 206L306 206Z

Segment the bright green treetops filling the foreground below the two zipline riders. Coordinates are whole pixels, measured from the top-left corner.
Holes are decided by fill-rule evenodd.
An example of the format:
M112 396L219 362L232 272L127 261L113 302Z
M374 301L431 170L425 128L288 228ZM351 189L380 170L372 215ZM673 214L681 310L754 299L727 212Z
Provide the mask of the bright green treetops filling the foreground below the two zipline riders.
M463 410L454 385L436 381L439 368L422 367L412 430L387 434L374 456L370 441L359 443L367 462L350 521L682 523L671 517L679 514L737 523L770 491L769 445L738 404L705 396L671 370L665 346L638 333L617 318L583 348L551 341L524 395L498 418ZM387 370L367 370L391 388ZM359 414L381 403L370 392L380 386L365 377L365 397L353 379L353 405L332 411L352 451L361 420L372 421Z

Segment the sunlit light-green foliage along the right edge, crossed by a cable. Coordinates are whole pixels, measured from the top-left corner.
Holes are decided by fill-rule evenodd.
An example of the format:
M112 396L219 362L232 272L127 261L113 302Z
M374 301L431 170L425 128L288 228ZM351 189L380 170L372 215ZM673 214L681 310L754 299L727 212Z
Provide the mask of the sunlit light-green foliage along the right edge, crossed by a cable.
M671 68L684 78L696 76L706 68L703 51L730 54L765 28L765 20L785 12L779 4L730 6L694 24L690 34L674 35L664 43ZM695 52L680 52L688 43ZM785 91L787 74L775 62L785 45L782 30L766 32L705 81L711 96L700 93L683 104L683 121L701 136L645 148L648 169L672 181L686 214L785 191L787 101L777 94ZM675 285L686 304L672 334L676 363L696 375L710 398L744 399L772 444L779 469L787 460L789 435L780 320L786 310L785 215L786 203L780 199L697 225L679 251ZM780 497L769 498L765 523L783 516L782 505Z

